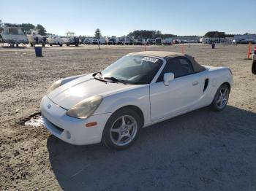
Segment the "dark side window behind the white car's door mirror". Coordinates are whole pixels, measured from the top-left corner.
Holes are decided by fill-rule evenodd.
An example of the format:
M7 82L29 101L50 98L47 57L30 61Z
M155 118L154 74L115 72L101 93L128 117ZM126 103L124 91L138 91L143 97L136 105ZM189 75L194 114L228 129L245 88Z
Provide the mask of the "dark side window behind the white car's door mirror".
M172 72L174 77L177 78L193 74L194 70L192 63L187 58L177 57L167 61L165 69L162 70L157 82L162 82L164 74L167 72Z

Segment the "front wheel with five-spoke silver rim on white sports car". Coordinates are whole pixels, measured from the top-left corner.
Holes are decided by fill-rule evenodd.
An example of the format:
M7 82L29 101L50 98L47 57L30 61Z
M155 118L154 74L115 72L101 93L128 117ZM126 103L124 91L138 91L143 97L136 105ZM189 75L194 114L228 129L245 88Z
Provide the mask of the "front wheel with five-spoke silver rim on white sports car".
M127 149L138 138L142 125L137 112L129 108L119 109L108 119L102 133L102 142L110 149Z

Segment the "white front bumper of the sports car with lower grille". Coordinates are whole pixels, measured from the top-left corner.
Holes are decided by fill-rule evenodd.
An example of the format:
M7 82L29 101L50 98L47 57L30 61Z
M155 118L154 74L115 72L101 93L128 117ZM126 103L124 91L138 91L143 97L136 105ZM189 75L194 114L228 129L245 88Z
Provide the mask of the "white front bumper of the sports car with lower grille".
M105 123L111 113L92 115L86 120L69 117L67 110L54 104L47 95L41 101L42 121L45 128L59 139L76 145L96 144L102 139ZM97 122L94 127L87 128L86 123Z

